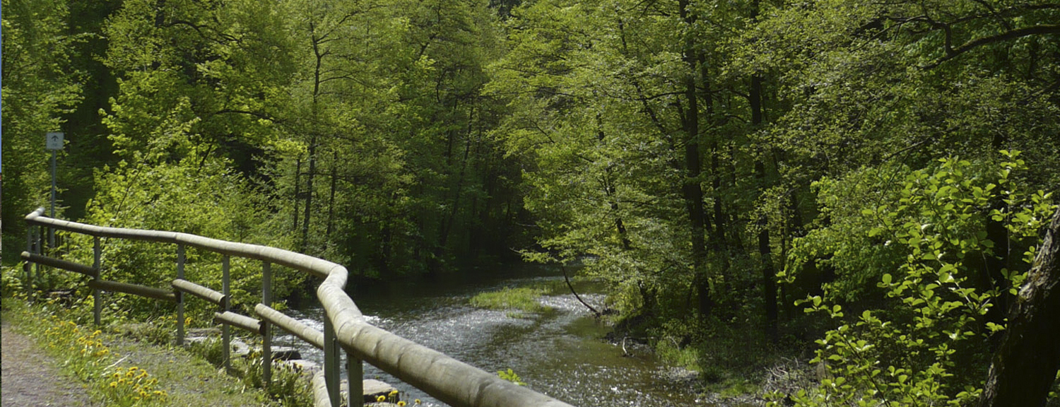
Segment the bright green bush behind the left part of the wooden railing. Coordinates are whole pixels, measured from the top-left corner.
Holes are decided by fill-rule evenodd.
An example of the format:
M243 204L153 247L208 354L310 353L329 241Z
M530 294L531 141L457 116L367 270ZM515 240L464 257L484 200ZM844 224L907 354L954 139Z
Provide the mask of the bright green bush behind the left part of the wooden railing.
M265 202L258 201L248 183L223 160L192 159L174 164L148 165L121 162L96 174L98 195L90 202L86 223L109 227L170 230L212 238L284 247L267 220ZM88 236L69 238L71 258L92 263ZM169 287L176 278L176 247L151 242L103 240L102 278L154 287ZM220 255L193 248L186 250L184 279L219 290ZM261 298L261 263L231 259L234 306L252 307ZM273 271L272 293L285 298L306 281L302 272ZM110 306L134 319L171 315L170 306L135 296L108 295ZM215 307L189 298L188 313L209 320Z

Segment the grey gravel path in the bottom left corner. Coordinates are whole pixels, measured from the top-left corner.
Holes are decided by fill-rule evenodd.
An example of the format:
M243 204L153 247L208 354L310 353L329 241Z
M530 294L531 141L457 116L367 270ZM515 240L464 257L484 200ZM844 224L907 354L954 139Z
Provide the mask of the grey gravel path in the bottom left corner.
M3 407L93 406L80 385L59 375L33 339L2 321Z

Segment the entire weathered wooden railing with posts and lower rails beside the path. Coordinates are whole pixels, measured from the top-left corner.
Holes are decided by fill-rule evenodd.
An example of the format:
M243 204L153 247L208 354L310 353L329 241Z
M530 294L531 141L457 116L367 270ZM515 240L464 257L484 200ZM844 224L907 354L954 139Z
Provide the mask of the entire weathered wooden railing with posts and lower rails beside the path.
M306 343L322 349L324 351L324 367L313 378L316 406L337 407L340 405L339 366L341 353L344 351L348 362L348 400L353 406L359 406L363 401L361 360L364 360L455 407L569 407L566 403L516 386L495 374L487 373L368 323L360 314L360 309L346 294L344 287L349 275L346 267L341 265L275 247L219 241L188 233L108 228L59 220L42 216L43 211L43 208L40 208L25 216L30 232L28 233L26 251L22 253L22 258L28 261L24 272L29 278L30 262L32 262L91 277L92 280L89 281L88 285L92 288L95 300L93 315L96 324L100 323L102 304L100 291L102 290L176 301L177 343L182 344L184 335L183 301L184 294L188 294L218 306L214 321L223 326L226 366L230 349L228 342L230 339L229 326L236 326L262 336L263 379L266 384L270 382L272 365L270 347L273 325L289 332ZM38 227L36 232L34 232L34 226ZM93 236L94 261L92 266L42 255L40 236L45 228ZM172 290L103 280L101 237L175 244L177 264L176 278L171 284ZM184 280L186 247L194 247L223 255L223 287L220 291ZM260 320L235 314L229 309L231 304L228 271L229 256L232 255L262 261L262 301L254 306L254 313L261 318ZM324 309L323 332L316 331L270 306L272 301L271 264L290 267L323 279L323 282L317 286L317 299ZM37 272L40 272L39 266Z

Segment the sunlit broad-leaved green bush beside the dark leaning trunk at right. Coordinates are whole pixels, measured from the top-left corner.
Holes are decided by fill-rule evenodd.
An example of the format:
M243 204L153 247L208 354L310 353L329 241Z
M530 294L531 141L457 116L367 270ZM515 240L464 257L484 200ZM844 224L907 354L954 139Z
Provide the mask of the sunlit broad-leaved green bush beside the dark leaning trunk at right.
M823 313L838 326L817 340L812 360L827 364L829 378L793 397L798 405L965 405L978 396L989 365L988 339L1004 330L988 312L1020 286L1034 261L1038 231L1054 210L1050 194L1024 192L1015 180L1026 166L1020 154L1002 154L1006 159L995 165L943 159L936 167L913 171L895 191L882 193L897 199L863 209L870 228L840 224L829 231L882 240L896 246L903 262L879 277L887 298L879 306L859 303L862 309L847 317L849 311L837 303L844 297L832 293L842 284L826 285L824 295L805 300L808 313ZM993 207L995 201L1003 206ZM988 222L1005 226L1004 242L988 238ZM802 245L813 246L812 236L796 242ZM1008 259L1001 270L1006 281L984 284L987 259L1013 250L1025 251Z

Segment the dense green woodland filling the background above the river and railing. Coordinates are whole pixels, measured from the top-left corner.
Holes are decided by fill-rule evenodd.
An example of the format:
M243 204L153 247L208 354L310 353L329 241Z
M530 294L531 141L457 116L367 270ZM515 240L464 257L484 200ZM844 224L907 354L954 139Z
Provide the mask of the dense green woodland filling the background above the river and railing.
M64 218L365 278L577 265L705 372L828 361L784 402L971 405L1060 190L1058 23L1047 0L3 0L4 261L61 130ZM105 263L173 255L134 249Z

